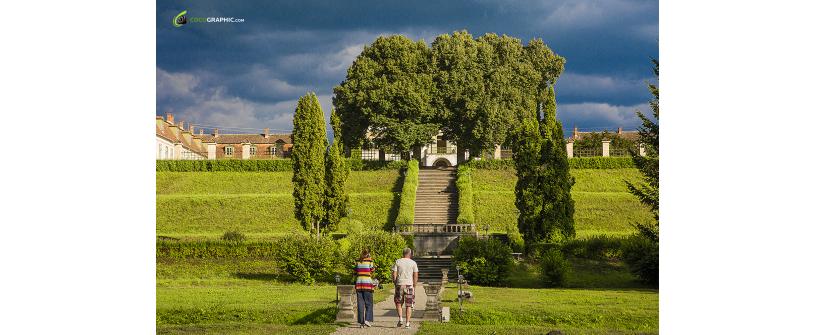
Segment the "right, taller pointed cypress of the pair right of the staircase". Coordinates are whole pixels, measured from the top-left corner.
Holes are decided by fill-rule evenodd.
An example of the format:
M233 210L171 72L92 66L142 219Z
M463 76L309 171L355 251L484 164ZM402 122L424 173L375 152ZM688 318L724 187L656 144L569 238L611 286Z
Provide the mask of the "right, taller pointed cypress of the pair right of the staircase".
M549 86L543 105L544 132L541 148L540 191L543 198L541 211L541 238L557 241L573 238L574 200L572 185L574 177L569 174L569 158L566 156L566 139L563 126L557 120L555 90Z

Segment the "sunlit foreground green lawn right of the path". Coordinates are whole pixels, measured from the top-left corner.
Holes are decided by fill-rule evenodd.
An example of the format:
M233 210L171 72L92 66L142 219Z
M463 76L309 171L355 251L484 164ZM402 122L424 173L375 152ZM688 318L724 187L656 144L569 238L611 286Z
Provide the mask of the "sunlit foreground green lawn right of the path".
M456 287L444 291L449 324L424 323L421 334L656 334L659 299L647 289L525 289L471 286L458 311Z

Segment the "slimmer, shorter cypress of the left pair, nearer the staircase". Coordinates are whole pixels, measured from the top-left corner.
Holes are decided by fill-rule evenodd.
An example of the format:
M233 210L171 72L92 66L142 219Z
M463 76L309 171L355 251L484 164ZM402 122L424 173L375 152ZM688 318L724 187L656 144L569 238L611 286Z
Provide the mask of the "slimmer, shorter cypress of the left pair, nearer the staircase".
M325 221L327 230L336 229L340 219L348 216L348 193L345 181L348 179L348 166L343 159L342 124L336 111L331 109L331 128L334 129L334 143L325 156Z

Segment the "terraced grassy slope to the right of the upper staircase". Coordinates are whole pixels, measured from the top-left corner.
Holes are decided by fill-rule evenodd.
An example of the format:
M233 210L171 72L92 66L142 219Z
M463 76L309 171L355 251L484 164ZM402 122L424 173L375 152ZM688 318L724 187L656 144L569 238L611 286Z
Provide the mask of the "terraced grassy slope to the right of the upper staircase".
M578 237L628 234L633 231L630 223L652 220L647 208L625 187L625 180L642 180L636 169L574 169L571 174L575 177L572 198ZM515 180L513 170L475 171L475 217L481 229L490 225L491 231L504 231L517 224Z

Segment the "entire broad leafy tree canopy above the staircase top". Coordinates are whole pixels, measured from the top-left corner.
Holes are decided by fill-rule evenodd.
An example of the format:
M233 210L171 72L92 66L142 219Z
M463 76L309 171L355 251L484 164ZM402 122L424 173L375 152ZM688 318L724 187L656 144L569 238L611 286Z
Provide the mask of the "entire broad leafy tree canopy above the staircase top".
M379 37L334 88L342 141L358 147L371 131L377 146L405 152L442 130L460 152L478 156L539 112L564 63L541 39L523 45L456 31L428 48L401 35Z

